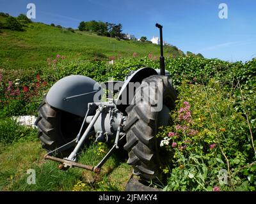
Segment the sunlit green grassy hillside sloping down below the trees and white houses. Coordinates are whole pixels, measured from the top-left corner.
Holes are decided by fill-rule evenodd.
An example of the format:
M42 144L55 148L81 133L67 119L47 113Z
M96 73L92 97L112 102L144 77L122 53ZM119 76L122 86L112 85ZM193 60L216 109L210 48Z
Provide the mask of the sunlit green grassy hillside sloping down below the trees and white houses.
M6 18L1 17L0 22ZM184 55L176 47L165 47L165 55ZM136 53L136 54L134 54ZM47 58L63 55L66 59L97 61L109 57L159 55L159 46L139 41L118 41L97 34L60 29L42 23L29 23L24 31L1 29L0 68L38 69L47 66Z

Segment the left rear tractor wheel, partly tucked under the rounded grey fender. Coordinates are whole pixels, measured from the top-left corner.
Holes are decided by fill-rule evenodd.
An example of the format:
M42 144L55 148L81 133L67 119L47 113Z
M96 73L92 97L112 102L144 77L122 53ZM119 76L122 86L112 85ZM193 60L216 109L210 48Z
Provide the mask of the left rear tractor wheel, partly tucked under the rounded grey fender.
M38 107L38 118L35 122L42 147L49 152L74 140L82 122L83 117L53 108L44 99ZM70 152L71 149L60 153L63 156Z

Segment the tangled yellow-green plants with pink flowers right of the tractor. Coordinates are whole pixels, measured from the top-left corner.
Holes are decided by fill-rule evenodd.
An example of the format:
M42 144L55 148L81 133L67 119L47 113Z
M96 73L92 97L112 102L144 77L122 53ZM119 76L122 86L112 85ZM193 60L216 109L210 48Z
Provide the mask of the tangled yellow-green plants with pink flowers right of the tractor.
M217 80L206 86L182 83L172 113L173 125L158 135L161 148L172 154L170 165L164 169L170 173L165 190L234 191L243 186L255 191L253 141L233 100L230 87ZM220 181L220 171L226 173L227 182Z

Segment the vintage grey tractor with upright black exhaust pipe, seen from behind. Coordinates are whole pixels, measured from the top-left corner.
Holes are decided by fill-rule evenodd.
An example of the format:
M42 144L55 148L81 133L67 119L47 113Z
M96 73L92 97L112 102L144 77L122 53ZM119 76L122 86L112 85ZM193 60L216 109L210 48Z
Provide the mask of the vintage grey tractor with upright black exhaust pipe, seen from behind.
M156 179L163 160L157 130L169 124L177 99L170 74L164 69L163 26L156 27L160 31L160 69L131 70L124 82L99 84L89 77L70 75L52 85L38 107L35 122L47 150L45 159L59 162L61 170L78 167L99 173L121 147L128 152L127 163L134 175ZM104 91L108 92L105 101ZM111 149L96 166L77 163L79 151L92 136L97 142L111 143Z

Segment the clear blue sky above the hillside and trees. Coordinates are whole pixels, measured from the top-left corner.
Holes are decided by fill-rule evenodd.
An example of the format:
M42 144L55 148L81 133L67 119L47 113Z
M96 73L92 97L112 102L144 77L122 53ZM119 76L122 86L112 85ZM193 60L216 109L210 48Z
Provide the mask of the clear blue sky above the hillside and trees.
M137 38L158 36L182 51L207 58L248 61L256 57L255 0L0 0L0 11L17 16L36 5L36 22L77 28L82 20L121 23L124 33ZM220 3L228 6L228 18L218 17Z

